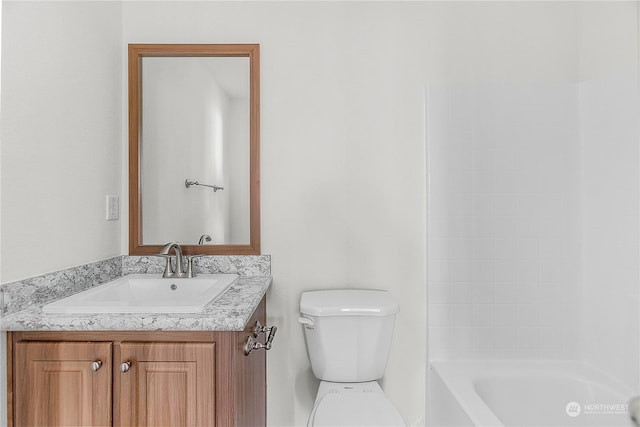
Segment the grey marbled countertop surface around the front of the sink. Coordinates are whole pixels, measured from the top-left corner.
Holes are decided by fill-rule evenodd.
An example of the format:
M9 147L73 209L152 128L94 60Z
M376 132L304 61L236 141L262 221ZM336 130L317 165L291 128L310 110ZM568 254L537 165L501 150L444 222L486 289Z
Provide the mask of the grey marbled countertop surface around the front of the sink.
M200 313L59 314L44 304L2 317L4 331L242 331L271 285L271 276L239 276Z

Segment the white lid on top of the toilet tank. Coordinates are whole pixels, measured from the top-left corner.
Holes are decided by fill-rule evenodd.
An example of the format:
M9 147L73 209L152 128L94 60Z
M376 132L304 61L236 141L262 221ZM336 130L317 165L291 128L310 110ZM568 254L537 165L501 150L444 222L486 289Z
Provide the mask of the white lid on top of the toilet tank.
M300 312L310 316L389 316L398 310L388 291L333 289L300 296Z

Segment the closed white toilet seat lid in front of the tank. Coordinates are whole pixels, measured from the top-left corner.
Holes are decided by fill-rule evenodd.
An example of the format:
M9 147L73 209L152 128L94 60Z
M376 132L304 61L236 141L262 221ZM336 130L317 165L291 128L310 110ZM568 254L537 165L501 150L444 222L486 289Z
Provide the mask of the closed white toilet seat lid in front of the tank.
M309 427L405 425L402 416L387 396L381 390L372 390L370 387L327 392L314 405L308 423Z

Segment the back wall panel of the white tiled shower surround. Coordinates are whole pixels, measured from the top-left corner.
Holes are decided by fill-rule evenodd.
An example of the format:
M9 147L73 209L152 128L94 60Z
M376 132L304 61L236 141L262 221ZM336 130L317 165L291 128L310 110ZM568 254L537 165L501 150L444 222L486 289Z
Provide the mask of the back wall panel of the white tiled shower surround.
M571 357L577 86L428 97L430 357Z

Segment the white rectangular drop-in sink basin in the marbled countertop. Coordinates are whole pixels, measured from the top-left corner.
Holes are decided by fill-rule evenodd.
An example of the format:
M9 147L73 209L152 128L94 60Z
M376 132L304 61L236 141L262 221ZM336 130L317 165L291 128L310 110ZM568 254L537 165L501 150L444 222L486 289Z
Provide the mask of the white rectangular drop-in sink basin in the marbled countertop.
M237 274L165 279L130 274L42 307L46 313L197 313L220 296Z

